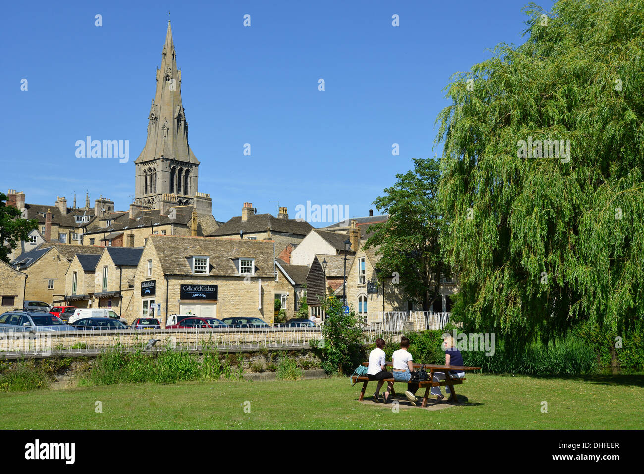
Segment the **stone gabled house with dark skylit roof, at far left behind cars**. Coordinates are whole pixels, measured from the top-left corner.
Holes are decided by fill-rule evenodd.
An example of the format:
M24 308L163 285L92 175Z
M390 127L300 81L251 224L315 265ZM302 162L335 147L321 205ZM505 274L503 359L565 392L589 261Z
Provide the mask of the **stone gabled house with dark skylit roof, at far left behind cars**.
M102 247L45 242L11 261L11 266L27 274L24 299L36 299L50 305L63 303L66 274L77 253L98 255Z

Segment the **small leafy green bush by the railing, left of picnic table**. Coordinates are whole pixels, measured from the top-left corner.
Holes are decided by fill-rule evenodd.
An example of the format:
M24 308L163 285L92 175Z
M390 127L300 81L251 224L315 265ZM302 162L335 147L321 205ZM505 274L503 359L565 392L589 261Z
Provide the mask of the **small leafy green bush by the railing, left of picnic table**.
M327 374L351 374L363 361L363 324L355 311L343 310L342 300L330 296L324 301L326 313L322 327L323 344L317 345L321 352L322 368Z

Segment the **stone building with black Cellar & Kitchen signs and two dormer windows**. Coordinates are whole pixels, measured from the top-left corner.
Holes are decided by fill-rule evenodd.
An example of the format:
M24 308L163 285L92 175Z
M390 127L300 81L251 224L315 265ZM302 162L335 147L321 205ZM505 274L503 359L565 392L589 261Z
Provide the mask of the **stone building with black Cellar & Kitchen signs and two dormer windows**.
M134 292L121 314L226 318L248 316L272 323L273 242L153 235L134 276Z

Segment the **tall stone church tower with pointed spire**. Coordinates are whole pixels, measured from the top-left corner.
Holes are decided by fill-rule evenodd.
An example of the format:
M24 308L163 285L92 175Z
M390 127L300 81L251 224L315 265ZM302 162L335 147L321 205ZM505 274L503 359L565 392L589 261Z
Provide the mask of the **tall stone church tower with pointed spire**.
M198 193L199 161L188 144L181 71L176 68L169 21L161 68L156 70L155 98L147 120L146 146L134 162L135 204L154 209L192 204L198 213L210 214L210 196Z

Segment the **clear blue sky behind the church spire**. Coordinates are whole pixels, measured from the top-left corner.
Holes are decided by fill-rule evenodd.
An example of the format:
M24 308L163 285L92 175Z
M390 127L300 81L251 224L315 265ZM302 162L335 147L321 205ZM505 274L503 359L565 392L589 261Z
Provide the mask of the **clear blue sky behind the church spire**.
M412 158L439 153L434 121L450 75L500 42L524 42L526 3L9 3L0 191L69 205L75 191L83 205L88 190L92 205L102 194L128 209L170 10L199 191L211 195L214 217L240 215L246 201L258 213L277 214L279 202L294 217L310 201L366 216ZM87 135L129 140L129 162L77 158Z

